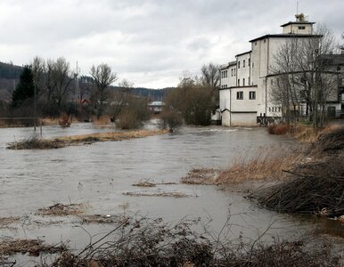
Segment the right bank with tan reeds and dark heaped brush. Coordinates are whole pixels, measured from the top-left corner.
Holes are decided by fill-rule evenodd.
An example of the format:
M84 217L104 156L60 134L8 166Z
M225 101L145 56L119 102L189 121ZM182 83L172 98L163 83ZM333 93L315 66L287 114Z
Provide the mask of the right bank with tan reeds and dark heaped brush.
M342 220L344 127L307 134L308 142L310 137L314 142L300 144L299 150L278 154L272 149L249 161L239 158L225 170L193 169L182 182L217 184L226 188L249 182L250 197L268 209ZM264 189L253 187L253 182L257 181L266 182ZM269 186L271 183L273 185Z

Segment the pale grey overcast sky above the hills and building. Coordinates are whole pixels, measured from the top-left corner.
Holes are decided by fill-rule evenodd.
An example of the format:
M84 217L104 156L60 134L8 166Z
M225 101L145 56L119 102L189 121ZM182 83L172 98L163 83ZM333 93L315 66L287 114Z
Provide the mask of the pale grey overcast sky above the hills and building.
M0 0L0 61L65 57L82 74L107 63L135 86L176 86L250 50L250 39L280 33L295 20L296 0ZM344 1L299 0L308 20L340 40Z

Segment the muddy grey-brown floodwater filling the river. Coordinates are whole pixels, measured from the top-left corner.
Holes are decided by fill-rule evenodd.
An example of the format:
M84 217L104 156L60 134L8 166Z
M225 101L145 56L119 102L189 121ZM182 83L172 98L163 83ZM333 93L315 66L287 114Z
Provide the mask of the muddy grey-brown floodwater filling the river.
M152 122L146 125L154 128ZM45 138L72 134L108 132L108 127L74 124L61 129L43 127ZM278 235L298 239L308 234L339 235L336 224L276 214L260 208L240 192L216 186L170 184L154 188L132 186L140 181L178 182L193 167L229 166L235 158L250 158L269 147L291 148L296 142L266 134L264 128L221 126L184 127L176 134L156 135L123 142L96 142L59 150L6 150L8 142L28 138L31 128L0 129L0 217L26 218L12 229L0 229L0 238L45 239L48 243L70 240L71 247L85 247L111 230L111 225L84 224L75 216L38 216L38 208L55 203L83 203L86 214L143 214L167 222L201 217L219 231L231 216L230 238L242 235L265 239ZM188 198L133 197L126 192L182 192ZM37 223L38 222L38 223ZM54 222L54 223L52 223ZM338 230L340 228L340 230ZM320 230L319 230L320 229Z

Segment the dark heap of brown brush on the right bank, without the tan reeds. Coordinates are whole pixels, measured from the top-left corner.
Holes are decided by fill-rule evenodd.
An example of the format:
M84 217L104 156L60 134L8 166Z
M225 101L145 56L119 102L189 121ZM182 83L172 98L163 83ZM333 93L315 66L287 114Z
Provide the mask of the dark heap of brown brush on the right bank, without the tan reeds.
M344 128L323 132L311 144L307 163L285 169L287 180L253 195L270 209L286 213L344 214Z

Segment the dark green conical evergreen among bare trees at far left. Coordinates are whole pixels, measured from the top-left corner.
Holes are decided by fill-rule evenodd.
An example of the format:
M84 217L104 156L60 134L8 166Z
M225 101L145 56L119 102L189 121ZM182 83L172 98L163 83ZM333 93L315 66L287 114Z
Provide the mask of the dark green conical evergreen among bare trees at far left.
M30 66L24 66L20 74L19 84L12 93L12 107L20 106L35 94L34 77Z

